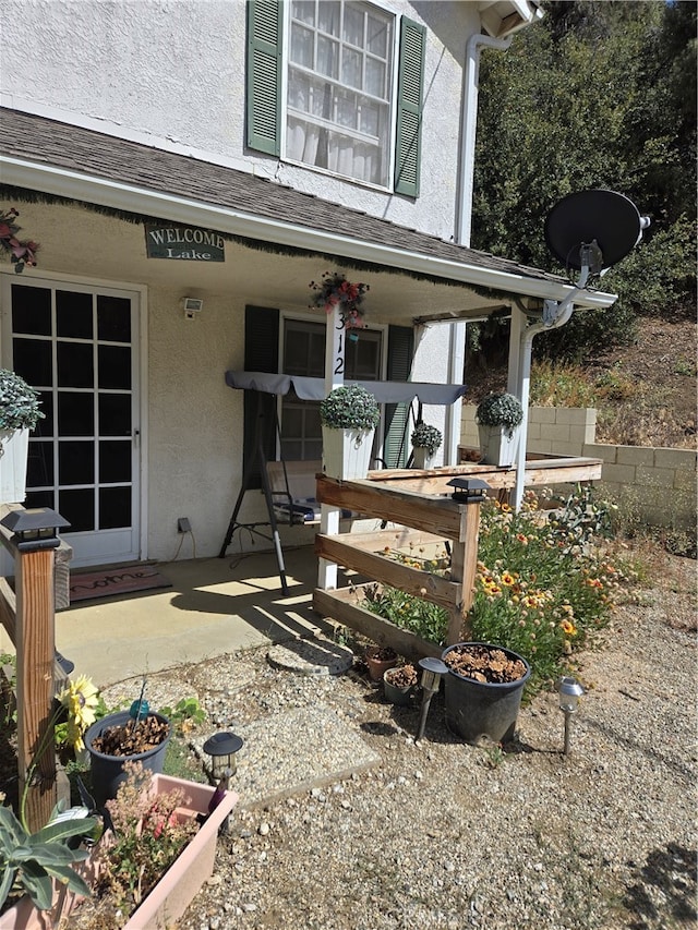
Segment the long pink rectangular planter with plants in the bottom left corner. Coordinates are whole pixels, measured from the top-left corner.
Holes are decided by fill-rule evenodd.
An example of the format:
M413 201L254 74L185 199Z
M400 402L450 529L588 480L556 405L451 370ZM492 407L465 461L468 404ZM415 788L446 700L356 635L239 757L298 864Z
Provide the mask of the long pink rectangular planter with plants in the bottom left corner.
M218 833L238 795L227 784L214 788L152 775L137 763L127 769L116 799L101 811L110 825L77 867L75 889L53 882L48 908L39 909L28 896L21 898L0 916L0 930L59 926L155 930L173 926L181 917L213 874ZM89 829L93 823L89 819ZM77 828L73 832L77 834ZM76 860L86 856L81 853Z

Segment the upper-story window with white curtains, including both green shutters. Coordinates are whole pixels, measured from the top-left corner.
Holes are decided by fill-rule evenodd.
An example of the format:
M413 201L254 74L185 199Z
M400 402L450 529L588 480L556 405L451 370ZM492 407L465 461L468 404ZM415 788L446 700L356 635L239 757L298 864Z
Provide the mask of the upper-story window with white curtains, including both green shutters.
M284 9L248 3L248 145L417 196L424 28L357 0Z

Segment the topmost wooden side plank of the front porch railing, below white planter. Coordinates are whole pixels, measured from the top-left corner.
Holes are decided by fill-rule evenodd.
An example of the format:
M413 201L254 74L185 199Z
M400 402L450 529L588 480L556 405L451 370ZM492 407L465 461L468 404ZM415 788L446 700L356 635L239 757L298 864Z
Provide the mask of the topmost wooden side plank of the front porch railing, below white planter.
M317 499L323 504L404 523L449 540L465 532L462 505L450 498L429 498L423 494L381 486L371 481L317 479Z

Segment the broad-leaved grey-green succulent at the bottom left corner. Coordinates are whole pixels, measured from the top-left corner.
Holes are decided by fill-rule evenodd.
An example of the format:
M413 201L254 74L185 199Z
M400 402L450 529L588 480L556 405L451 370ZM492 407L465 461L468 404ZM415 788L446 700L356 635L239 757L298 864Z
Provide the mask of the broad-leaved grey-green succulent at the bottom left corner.
M98 828L94 817L57 821L63 811L57 806L46 826L29 833L9 807L0 807L0 908L11 891L25 892L39 910L50 910L51 879L70 891L88 896L88 885L72 868L87 858L85 849L72 849L69 840L86 836Z

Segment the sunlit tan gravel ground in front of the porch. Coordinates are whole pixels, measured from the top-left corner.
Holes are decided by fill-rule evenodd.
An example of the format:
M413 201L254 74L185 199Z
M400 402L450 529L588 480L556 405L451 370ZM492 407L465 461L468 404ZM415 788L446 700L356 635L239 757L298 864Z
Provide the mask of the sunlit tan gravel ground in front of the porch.
M550 693L502 753L453 737L441 696L416 745L419 709L386 703L360 666L311 677L248 652L232 692L225 663L190 666L214 723L320 703L380 762L265 807L243 797L178 927L695 927L695 563L679 561L582 656L568 757Z

